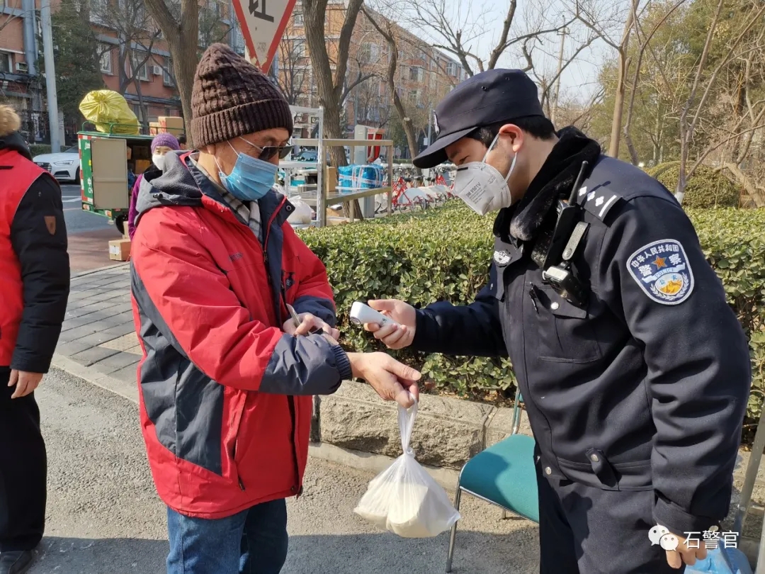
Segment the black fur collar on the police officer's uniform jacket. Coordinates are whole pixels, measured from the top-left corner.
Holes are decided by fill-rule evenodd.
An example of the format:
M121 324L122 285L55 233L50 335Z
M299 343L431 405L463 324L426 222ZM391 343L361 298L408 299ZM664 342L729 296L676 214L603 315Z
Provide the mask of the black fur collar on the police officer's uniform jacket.
M521 200L500 210L494 222L496 236L531 241L539 226L558 199L568 198L571 186L588 161L592 169L601 155L601 145L571 126L558 132L558 142L545 160L539 173L529 184Z

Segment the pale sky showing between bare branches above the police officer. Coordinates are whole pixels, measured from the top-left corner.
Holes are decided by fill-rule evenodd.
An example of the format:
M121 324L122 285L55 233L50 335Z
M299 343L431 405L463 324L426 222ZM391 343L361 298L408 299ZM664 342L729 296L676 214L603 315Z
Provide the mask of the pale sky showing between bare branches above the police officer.
M415 0L415 2L418 1ZM543 28L554 28L562 24L565 18L571 18L574 14L576 2L577 0L518 0L516 18L509 38L517 38L531 29L538 29L535 27L540 24ZM592 19L607 30L610 38L618 43L629 3L625 0L616 2L614 0L610 2L609 0L579 0L579 2L588 9ZM461 28L464 31L463 38L469 38L470 41L466 44L470 45L471 50L487 61L491 50L496 45L497 38L500 37L509 0L425 0L422 6L431 10L438 6L437 11L447 15L448 22L454 29ZM424 39L431 43L438 43L438 34L424 30L425 27L415 27L405 21L401 21L400 24L412 31L417 31L418 34L424 32L425 36L431 37ZM564 42L564 62L570 59L581 44L584 44L588 34L591 34L591 31L581 22L571 24ZM532 51L535 67L538 70L546 70L546 77L554 76L557 71L560 42L560 35L548 34L542 44L536 44ZM613 57L615 57L614 48L601 39L593 41L589 47L584 48L561 75L561 99L568 96L582 102L588 101L597 92L597 73L601 64L604 60ZM470 64L473 64L472 61ZM503 54L498 63L498 67L525 66L526 59L513 47ZM477 67L474 67L474 70L477 70Z

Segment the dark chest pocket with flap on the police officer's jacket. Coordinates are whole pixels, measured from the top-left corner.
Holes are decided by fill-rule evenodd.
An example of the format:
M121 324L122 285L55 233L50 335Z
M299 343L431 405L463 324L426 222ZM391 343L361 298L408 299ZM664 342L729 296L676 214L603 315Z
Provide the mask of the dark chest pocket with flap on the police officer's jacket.
M537 325L539 359L589 363L601 358L586 308L571 305L547 285L528 285L531 305L527 317Z

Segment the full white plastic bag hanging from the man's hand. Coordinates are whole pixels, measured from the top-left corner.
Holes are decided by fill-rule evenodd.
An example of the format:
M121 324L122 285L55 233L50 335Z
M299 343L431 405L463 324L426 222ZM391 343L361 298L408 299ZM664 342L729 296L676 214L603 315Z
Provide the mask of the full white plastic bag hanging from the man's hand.
M415 416L417 403L409 409L399 406L404 454L373 478L353 511L382 530L404 538L429 538L451 528L460 514L409 447Z

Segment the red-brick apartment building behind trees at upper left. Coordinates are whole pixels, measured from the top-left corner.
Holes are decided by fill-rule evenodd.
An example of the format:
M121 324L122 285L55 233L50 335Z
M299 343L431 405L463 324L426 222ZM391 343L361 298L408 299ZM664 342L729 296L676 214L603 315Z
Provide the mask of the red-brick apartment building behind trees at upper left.
M52 1L54 12L59 3ZM39 8L40 0L0 3L0 98L19 110L30 141L48 137L44 84L37 70ZM233 14L231 0L200 0L200 50L223 41L244 52ZM98 41L104 86L122 93L145 125L159 116L181 116L168 45L143 0L90 0L89 20ZM77 119L65 118L64 123L68 142L77 131Z

